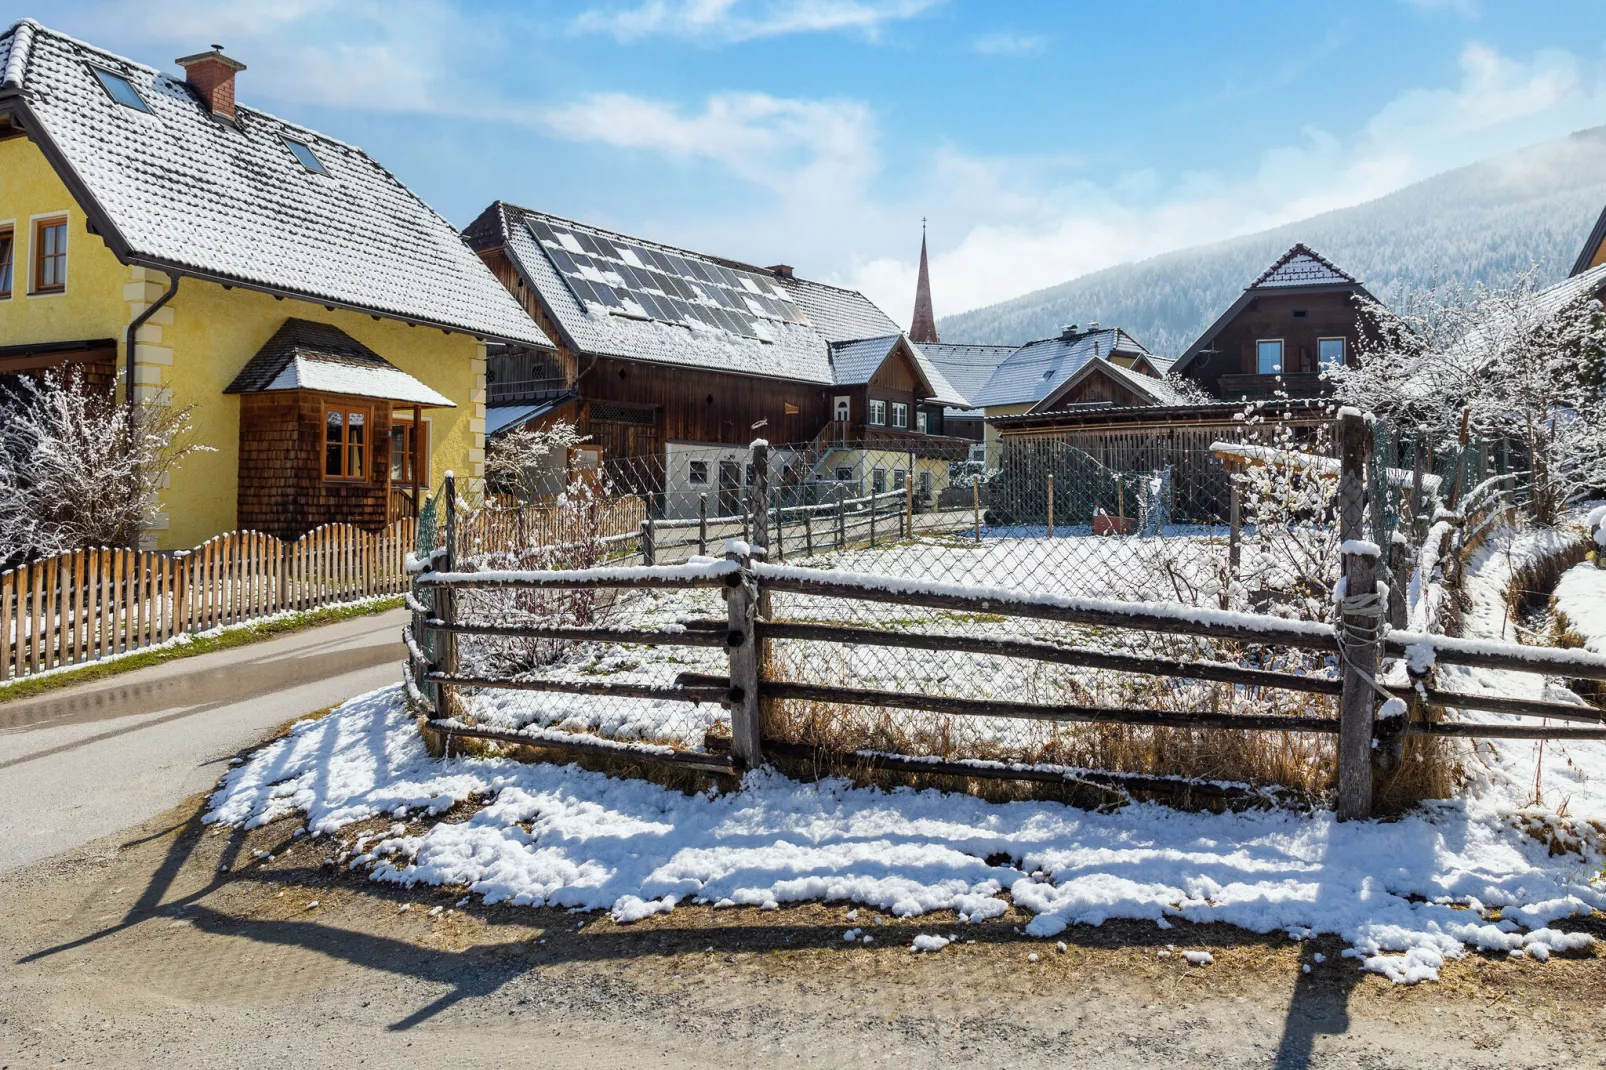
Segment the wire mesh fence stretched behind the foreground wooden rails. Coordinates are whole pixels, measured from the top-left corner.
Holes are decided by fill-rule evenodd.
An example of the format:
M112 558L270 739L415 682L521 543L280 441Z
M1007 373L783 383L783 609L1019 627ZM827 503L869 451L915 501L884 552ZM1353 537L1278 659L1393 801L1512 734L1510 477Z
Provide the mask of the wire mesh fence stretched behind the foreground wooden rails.
M1412 443L1394 442L1386 432L1378 440L1370 529L1380 545L1400 517L1410 517L1413 500L1416 511L1425 511L1423 503L1444 493L1457 466L1481 474L1478 464L1486 461L1478 456L1490 455L1439 456L1416 479ZM1331 612L1341 540L1336 461L1325 432L1299 442L1269 435L1261 453L1211 443L1118 458L1044 435L1005 442L991 464L983 450L952 443L930 450L919 443L893 450L882 442L837 443L829 453L811 448L766 447L763 471L755 469L755 450L737 447L671 445L647 458L613 458L575 472L562 493L464 509L456 521L454 567L673 566L721 556L728 540L740 540L766 546L771 564L859 580L1156 602L1177 614L1248 611L1327 620ZM430 509L421 532L426 527L440 529ZM726 673L718 639L726 604L716 588L472 590L459 591L458 599L456 619L487 631L543 625L597 631L585 639L458 636L464 665L577 686L575 694L471 691L467 712L477 723L684 749L719 747L729 734L729 715L716 702L694 705L650 694L652 688ZM870 598L777 591L766 601L763 614L776 623L864 631L862 641L766 641L764 676L774 680L1046 705L1294 718L1336 713L1331 694L1021 660L981 647L917 649L888 643L885 633L1018 639L1336 678L1336 659L1320 651ZM630 641L631 630L687 638L644 644ZM599 683L615 688L578 692ZM618 692L633 688L638 691ZM1314 794L1331 787L1335 768L1333 739L1315 733L1066 725L805 699L766 705L766 733L777 741L835 752L1216 778Z

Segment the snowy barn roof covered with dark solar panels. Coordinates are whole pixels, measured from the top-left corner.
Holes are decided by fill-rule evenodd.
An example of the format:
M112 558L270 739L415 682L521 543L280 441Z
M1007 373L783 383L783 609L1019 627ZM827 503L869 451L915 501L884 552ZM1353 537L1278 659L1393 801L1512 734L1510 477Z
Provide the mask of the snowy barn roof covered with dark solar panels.
M898 333L851 289L501 201L464 238L506 251L577 353L832 384L832 342Z

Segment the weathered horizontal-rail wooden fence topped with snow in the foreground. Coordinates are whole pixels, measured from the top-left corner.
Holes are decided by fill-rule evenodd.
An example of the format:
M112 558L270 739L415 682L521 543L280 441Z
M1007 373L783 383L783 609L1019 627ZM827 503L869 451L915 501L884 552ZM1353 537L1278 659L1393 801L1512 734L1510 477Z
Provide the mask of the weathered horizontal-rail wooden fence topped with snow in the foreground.
M763 468L760 468L763 471ZM1349 471L1357 471L1351 464ZM448 495L448 501L450 501ZM763 500L763 498L760 498ZM1359 500L1357 500L1359 501ZM1351 503L1355 504L1355 503ZM456 704L458 688L517 689L551 694L628 696L666 702L719 702L731 710L729 771L761 765L768 755L798 757L798 744L774 739L766 733L763 700L801 700L837 707L901 709L948 717L1002 718L1047 723L1094 723L1147 728L1188 728L1206 731L1275 731L1336 734L1347 742L1359 736L1359 747L1339 747L1339 813L1363 816L1370 811L1372 765L1397 762L1400 741L1410 734L1420 736L1479 736L1521 739L1606 739L1606 715L1590 705L1566 702L1516 699L1505 696L1463 694L1437 688L1431 681L1431 668L1445 665L1479 665L1516 672L1551 673L1567 678L1606 680L1606 657L1584 651L1559 651L1526 647L1510 643L1452 639L1437 635L1376 628L1372 638L1365 631L1335 627L1322 622L1299 622L1262 614L1227 612L1164 602L1123 602L1099 598L1066 596L1060 593L1029 591L1007 586L965 586L928 580L911 580L891 575L866 575L825 569L806 569L768 564L764 546L774 521L772 511L755 511L753 537L756 546L732 540L726 543L724 561L699 559L678 566L605 567L538 572L456 572L451 548L430 562L419 562L416 591L410 596L413 623L406 636L408 694L418 704L434 707L432 728L448 737L479 737L512 742L528 742L546 749L565 749L562 733L541 729L536 736L520 736L519 731L474 725L461 717ZM1354 524L1354 517L1349 519ZM450 524L448 524L450 530ZM443 569L434 569L443 557ZM1362 553L1346 554L1352 564L1365 566L1370 557ZM1367 561L1360 561L1367 559ZM524 627L459 623L456 620L456 593L466 590L503 591L554 591L554 590L676 590L723 588L728 617L724 620L683 620L668 628L594 628L594 627ZM1357 585L1363 590L1363 585ZM1277 672L1227 660L1188 660L1164 657L1140 657L1108 649L1086 649L1021 638L981 635L927 635L893 628L866 628L822 625L806 622L772 620L766 615L768 596L787 593L805 598L845 601L891 602L903 607L925 607L967 614L973 619L1039 619L1058 620L1097 628L1115 628L1172 636L1196 636L1237 643L1249 649L1296 647L1343 652L1344 672L1333 678L1296 672ZM422 599L427 599L426 604ZM1346 617L1355 609L1346 607ZM1381 635L1380 635L1381 633ZM495 635L527 639L560 639L573 643L638 643L642 646L723 646L726 651L726 675L684 672L673 684L665 683L604 683L594 680L533 678L524 673L496 675L479 670L463 673L456 664L458 636ZM1339 717L1290 717L1275 713L1233 713L1219 710L1163 710L1139 707L1095 705L1089 702L1021 702L994 697L954 697L925 694L917 688L885 689L843 686L787 680L785 670L761 654L766 643L803 639L832 643L843 647L883 646L991 654L1007 659L1036 660L1060 665L1081 665L1095 670L1137 673L1174 680L1206 680L1259 689L1283 689L1338 696ZM1367 659L1357 651L1367 647ZM1378 684L1384 657L1404 659L1410 683ZM1368 660L1370 659L1370 660ZM1433 720L1428 707L1460 710L1487 710L1519 717L1542 717L1564 721L1584 721L1582 726L1553 726L1532 723L1460 723ZM581 741L583 742L583 741ZM630 747L626 745L626 750ZM642 762L657 760L662 747L630 750ZM676 752L676 762L718 763L719 758L699 753L695 758ZM867 768L909 771L911 763L920 763L920 771L949 771L960 765L940 762L923 755L887 755L869 750L829 755L821 749L809 752L816 760L850 760ZM684 758L684 760L683 760ZM1346 802L1346 778L1354 781L1354 765L1365 763L1365 794ZM935 763L935 765L933 765ZM962 763L964 776L1012 779L1021 763L968 762ZM1034 779L1047 776L1034 766ZM1086 771L1068 779L1086 779ZM1110 776L1124 776L1110 773ZM1150 778L1155 786L1142 790L1182 790L1213 794L1196 781ZM1135 781L1124 781L1135 786ZM1221 786L1216 786L1217 789ZM1240 786L1241 787L1241 786ZM1225 790L1225 789L1221 789ZM1237 790L1237 789L1233 789ZM1251 789L1245 789L1253 794ZM1219 794L1219 792L1217 792ZM1227 792L1230 794L1230 792Z

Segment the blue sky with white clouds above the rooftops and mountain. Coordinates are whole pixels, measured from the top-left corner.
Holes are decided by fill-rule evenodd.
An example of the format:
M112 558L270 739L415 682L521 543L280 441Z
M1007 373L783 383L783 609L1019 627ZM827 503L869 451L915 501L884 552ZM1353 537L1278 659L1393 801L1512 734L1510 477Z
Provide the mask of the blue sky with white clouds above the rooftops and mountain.
M864 289L907 321L1606 122L1595 3L0 2L496 198Z

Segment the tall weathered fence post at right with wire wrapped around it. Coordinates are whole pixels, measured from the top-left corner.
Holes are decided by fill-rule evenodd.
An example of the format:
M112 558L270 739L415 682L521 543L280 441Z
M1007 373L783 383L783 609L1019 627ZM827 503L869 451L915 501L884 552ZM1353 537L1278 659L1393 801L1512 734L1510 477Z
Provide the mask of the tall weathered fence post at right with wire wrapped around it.
M1359 411L1344 408L1338 415L1338 530L1344 540L1344 580L1336 617L1344 673L1338 728L1338 819L1352 821L1372 816L1373 676L1378 672L1383 606L1378 599L1378 549L1365 543L1372 429Z

